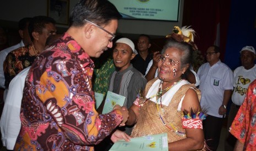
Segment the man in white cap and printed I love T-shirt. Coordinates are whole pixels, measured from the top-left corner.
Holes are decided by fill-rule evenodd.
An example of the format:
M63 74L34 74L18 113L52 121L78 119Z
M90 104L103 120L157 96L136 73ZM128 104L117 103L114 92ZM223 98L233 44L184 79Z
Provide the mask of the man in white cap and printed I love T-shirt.
M228 113L227 127L229 128L236 117L238 109L243 103L244 97L250 83L256 79L256 59L255 49L252 46L243 47L240 51L242 66L237 67L234 71L234 90L232 94L232 104ZM226 132L225 150L233 150L236 138L230 135L229 130Z

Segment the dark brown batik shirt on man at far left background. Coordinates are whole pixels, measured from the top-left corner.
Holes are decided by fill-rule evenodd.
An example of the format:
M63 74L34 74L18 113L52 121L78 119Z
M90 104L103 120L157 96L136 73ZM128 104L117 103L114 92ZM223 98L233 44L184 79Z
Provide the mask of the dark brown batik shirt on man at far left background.
M4 78L6 79L4 85L6 88L9 87L10 81L20 71L32 65L37 55L30 55L29 50L34 47L33 44L20 47L6 56L6 60L3 63L4 66Z

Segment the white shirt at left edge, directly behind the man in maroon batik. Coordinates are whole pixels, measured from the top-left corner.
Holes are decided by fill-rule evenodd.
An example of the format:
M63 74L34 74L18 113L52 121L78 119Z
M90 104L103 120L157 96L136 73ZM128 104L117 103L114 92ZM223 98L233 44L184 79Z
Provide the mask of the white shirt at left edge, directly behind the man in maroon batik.
M12 79L9 85L6 101L4 102L0 128L3 146L9 150L13 150L21 127L20 106L23 97L25 78L29 69L30 67L23 69L23 71Z

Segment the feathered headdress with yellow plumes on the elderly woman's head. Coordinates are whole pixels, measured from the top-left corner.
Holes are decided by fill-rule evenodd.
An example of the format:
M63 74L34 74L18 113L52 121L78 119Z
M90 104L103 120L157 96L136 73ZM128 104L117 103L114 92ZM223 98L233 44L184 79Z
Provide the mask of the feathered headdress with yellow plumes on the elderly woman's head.
M178 26L173 27L173 33L168 34L166 38L175 39L178 42L185 42L192 46L194 50L198 50L197 45L194 43L195 31L190 26L183 26L179 28Z

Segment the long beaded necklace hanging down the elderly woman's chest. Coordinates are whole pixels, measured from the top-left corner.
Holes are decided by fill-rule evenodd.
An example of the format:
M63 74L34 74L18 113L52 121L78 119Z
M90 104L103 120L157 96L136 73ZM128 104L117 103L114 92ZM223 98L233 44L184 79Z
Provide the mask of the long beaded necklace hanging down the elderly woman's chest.
M182 79L181 79L181 80L182 80ZM174 86L174 85L176 85L177 83L181 82L181 80L179 80L178 82L173 83L173 84L170 86L170 88L169 88L169 87L168 87L168 88L171 89L172 86ZM160 89L160 92L161 92L161 90L162 90L162 82L161 82L161 84L160 84L160 86L159 86L159 89ZM163 112L163 111L164 111L164 108L162 108L162 93L160 94L160 97L159 97L159 98L160 98L161 111ZM172 123L170 123L170 126L168 126L168 125L166 124L166 122L165 122L166 120L164 120L164 118L161 116L161 113L160 113L160 110L159 110L159 105L157 104L157 103L159 102L159 98L158 98L157 101L156 101L156 109L157 109L157 112L158 112L158 114L159 114L159 117L160 117L162 123L163 123L168 129L174 130L177 135L185 136L186 134L185 134L184 132L178 131L178 130L176 129L175 125L173 125Z

